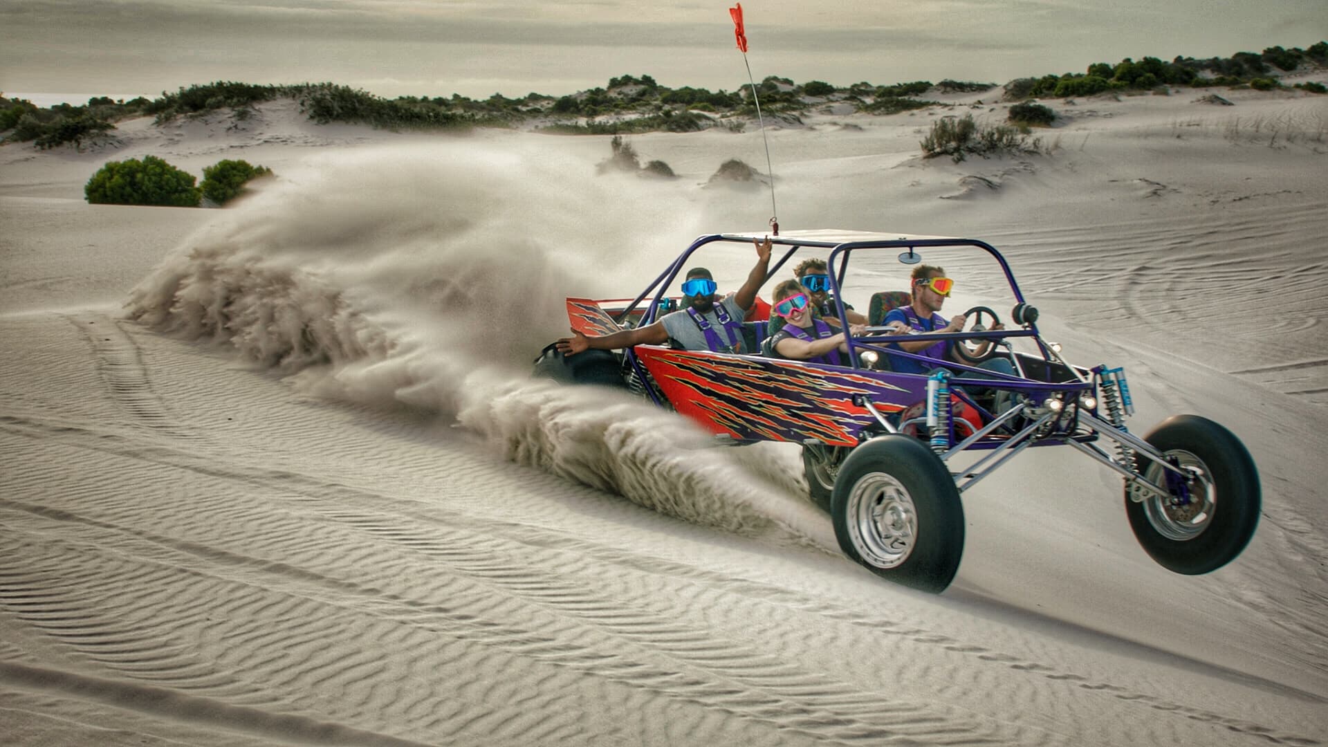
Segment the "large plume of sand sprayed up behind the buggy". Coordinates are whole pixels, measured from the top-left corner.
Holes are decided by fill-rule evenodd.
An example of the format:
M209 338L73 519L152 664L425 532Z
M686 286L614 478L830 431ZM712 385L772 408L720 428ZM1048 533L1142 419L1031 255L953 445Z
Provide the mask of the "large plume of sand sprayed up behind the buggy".
M230 344L316 396L437 412L506 459L688 521L823 533L788 452L705 448L640 399L530 379L535 352L566 334L564 298L611 295L640 222L676 225L685 198L543 154L424 156L309 162L189 237L134 288L129 316ZM668 255L647 254L656 268Z

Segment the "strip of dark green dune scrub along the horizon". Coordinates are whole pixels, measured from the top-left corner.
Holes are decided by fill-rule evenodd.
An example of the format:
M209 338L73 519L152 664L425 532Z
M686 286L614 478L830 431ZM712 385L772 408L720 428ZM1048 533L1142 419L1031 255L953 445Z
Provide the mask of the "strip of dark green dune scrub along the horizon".
M1236 52L1231 57L1197 60L1178 56L1170 62L1158 57L1138 61L1125 58L1116 65L1093 62L1082 73L1045 74L1016 78L1001 92L1007 101L1032 98L1082 97L1105 93L1150 92L1161 86L1193 88L1283 88L1282 73L1305 68L1328 66L1328 43L1307 49L1270 47L1262 53ZM855 82L837 86L825 81L797 84L790 78L769 76L756 85L761 110L772 117L795 121L799 112L814 110L829 102L851 106L854 112L894 114L910 109L944 105L928 100L955 92L995 89L996 84L943 80L914 81L894 85ZM1311 93L1325 93L1323 82L1299 82L1295 86ZM279 98L295 100L309 120L319 124L365 124L380 129L452 130L470 128L511 128L538 122L538 129L568 134L631 134L643 132L696 132L710 128L741 130L756 116L750 89L708 90L704 88L668 88L648 74L610 78L604 88L572 94L550 96L527 93L509 98L494 93L489 98L400 96L382 98L365 90L331 82L295 85L256 85L216 81L182 86L174 93L162 92L149 100L130 101L93 97L74 106L60 104L39 108L29 101L0 96L0 133L3 142L32 142L49 149L61 145L82 148L108 136L116 122L151 116L158 124L177 117L228 112L246 120L255 105ZM1041 122L1033 122L1041 124Z

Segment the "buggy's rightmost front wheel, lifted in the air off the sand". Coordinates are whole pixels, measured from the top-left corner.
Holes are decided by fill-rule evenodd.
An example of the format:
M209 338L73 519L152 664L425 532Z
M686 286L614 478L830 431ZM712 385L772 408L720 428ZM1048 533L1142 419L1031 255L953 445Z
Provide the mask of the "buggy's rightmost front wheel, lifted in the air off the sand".
M1231 431L1197 415L1169 417L1145 440L1193 472L1186 502L1125 492L1130 529L1154 561L1167 570L1198 576L1222 568L1244 550L1259 524L1263 502L1254 459ZM1135 456L1141 473L1166 485L1153 460Z

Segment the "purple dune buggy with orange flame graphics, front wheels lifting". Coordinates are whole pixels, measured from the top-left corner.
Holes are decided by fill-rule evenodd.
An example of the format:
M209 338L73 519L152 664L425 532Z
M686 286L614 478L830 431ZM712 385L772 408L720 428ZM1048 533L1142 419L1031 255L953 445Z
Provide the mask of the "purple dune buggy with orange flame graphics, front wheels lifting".
M728 247L746 258L754 237L697 238L632 299L567 299L572 327L604 335L649 324L677 307L668 288L693 253ZM726 444L801 444L810 496L831 514L845 554L916 589L939 593L950 585L964 546L961 496L1029 448L1069 448L1120 473L1134 536L1175 573L1215 570L1248 544L1262 498L1258 471L1240 440L1195 415L1170 417L1142 437L1130 432L1126 419L1134 409L1125 372L1066 363L1058 346L1040 335L1037 310L991 245L830 230L772 238L768 279L799 253L826 258L841 328L849 328L846 286L853 292L866 284L870 292L891 276L890 286L907 287L908 266L924 254L959 278L955 298L963 298L964 286L983 299L1009 292L1009 319L992 330L1000 322L996 311L975 306L967 310L971 327L963 332L908 338L950 340L964 360L934 366L928 374L891 368L891 360L911 355L890 347L900 338L880 326L891 306L908 303L908 294L898 290L871 292L866 334L847 336L846 366L762 355L768 322L748 320L744 350L756 352L640 344L562 356L548 346L535 362L537 372L627 387ZM850 280L850 261L854 276L865 280ZM1015 374L980 368L989 356L1007 356Z

